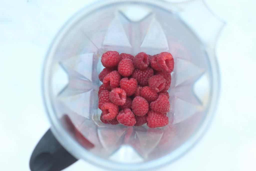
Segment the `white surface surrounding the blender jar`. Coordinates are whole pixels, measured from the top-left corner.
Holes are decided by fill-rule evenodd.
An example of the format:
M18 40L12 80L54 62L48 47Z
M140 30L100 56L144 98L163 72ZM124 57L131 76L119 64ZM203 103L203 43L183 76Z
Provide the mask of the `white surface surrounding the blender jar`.
M49 128L40 89L44 55L58 29L87 2L0 2L0 170L29 170L30 154ZM219 106L196 147L159 170L256 170L256 1L206 3L227 22L216 50ZM80 160L65 170L102 169Z

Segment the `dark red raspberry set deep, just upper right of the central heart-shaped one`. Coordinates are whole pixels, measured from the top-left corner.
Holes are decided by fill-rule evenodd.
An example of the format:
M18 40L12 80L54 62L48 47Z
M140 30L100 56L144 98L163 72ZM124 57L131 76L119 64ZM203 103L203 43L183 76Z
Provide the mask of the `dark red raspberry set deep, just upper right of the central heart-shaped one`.
M135 78L139 85L141 86L147 86L148 85L148 79L154 75L154 71L152 68L146 68L144 70L141 69L135 69L132 78Z

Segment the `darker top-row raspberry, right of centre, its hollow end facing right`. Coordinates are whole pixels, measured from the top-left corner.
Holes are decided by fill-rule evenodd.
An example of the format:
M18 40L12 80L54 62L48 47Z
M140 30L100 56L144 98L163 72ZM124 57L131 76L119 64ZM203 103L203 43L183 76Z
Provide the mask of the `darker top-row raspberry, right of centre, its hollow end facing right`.
M133 58L134 66L139 69L146 69L149 65L149 61L149 56L144 52L138 53Z

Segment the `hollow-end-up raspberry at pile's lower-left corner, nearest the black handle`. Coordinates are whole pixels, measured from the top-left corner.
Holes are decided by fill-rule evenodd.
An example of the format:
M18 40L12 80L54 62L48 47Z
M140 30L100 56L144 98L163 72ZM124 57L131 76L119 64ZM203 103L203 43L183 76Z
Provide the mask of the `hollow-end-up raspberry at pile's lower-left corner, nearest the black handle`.
M109 103L104 103L101 106L101 110L102 110L102 113L103 113L102 119L112 120L118 114L119 108L118 108L117 105L109 102Z

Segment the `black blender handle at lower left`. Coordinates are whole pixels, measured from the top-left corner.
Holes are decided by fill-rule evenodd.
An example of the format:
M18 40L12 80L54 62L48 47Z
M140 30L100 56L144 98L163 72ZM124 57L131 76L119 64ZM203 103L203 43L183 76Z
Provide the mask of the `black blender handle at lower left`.
M45 133L34 149L29 162L31 171L59 171L77 161L61 146L51 130Z

